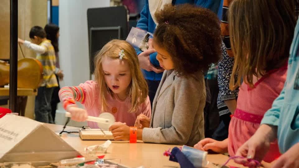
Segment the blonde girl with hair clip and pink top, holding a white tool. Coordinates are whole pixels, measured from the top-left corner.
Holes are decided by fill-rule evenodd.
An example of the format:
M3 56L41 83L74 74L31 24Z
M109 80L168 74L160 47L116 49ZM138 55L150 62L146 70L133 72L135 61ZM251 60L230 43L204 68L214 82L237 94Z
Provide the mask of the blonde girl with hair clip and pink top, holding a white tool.
M133 126L139 114L151 116L148 86L140 71L134 48L123 40L108 42L95 57L95 80L63 87L59 98L75 121L112 113L116 121ZM83 104L78 108L75 101ZM91 128L98 128L88 122Z

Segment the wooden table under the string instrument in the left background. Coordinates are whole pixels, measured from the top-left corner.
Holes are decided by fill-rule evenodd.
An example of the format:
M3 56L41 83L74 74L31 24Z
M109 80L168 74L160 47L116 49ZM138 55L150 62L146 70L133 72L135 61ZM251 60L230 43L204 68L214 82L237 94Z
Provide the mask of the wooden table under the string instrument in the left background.
M27 104L27 96L36 96L36 89L24 89L18 88L17 90L17 111L21 116L25 115L25 109ZM9 88L0 87L0 96L9 96Z

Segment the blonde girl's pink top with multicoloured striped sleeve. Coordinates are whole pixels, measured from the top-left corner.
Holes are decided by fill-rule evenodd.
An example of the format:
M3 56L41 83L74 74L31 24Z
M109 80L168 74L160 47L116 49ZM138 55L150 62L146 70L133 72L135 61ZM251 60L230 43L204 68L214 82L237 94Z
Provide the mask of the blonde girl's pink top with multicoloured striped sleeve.
M76 104L69 103L72 101L78 101L83 104L88 115L98 117L102 112L102 105L100 99L100 92L97 87L97 83L94 81L87 81L81 83L79 86L63 87L59 91L60 101L66 108L67 105ZM117 96L111 96L106 94L106 101L108 109L105 112L109 112L114 115L116 122L126 123L128 126L134 126L135 120L139 114L144 114L147 117L151 117L150 99L147 96L144 103L142 103L135 112L129 113L128 110L131 107L131 101L129 96L126 100L120 100ZM98 128L97 123L88 121L88 126L91 128Z

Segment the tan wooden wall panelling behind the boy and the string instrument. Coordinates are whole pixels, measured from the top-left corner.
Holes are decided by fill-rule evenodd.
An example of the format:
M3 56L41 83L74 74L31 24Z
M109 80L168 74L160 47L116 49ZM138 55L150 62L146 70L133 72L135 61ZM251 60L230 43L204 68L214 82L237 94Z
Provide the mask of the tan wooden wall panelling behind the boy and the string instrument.
M0 2L0 59L9 59L9 21L10 1ZM29 31L32 26L44 27L47 23L47 0L18 0L18 36L30 40ZM36 54L22 46L26 57L35 57ZM23 58L18 49L18 58Z

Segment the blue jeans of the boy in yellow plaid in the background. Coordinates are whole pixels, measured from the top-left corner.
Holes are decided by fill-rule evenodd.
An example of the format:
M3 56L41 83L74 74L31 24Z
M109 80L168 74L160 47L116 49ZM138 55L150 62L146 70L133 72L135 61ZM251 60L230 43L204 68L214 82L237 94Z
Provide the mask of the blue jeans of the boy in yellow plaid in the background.
M42 123L54 124L51 114L51 98L54 87L39 87L35 97L35 120Z

